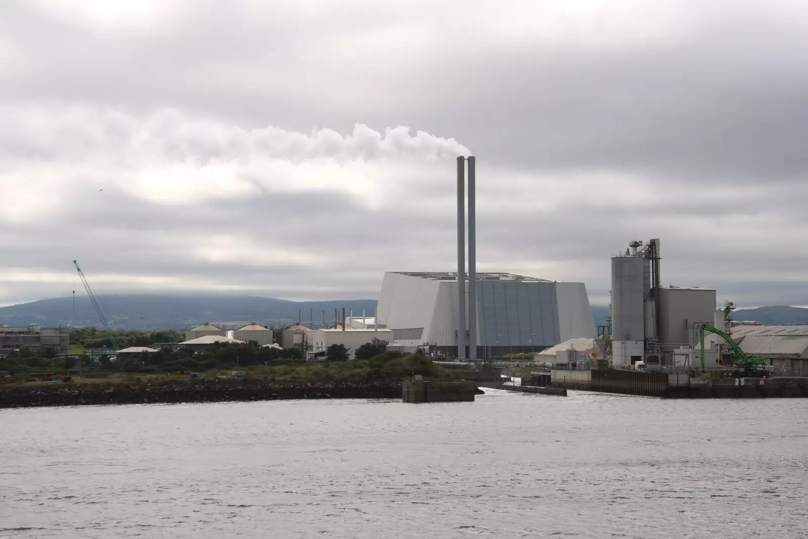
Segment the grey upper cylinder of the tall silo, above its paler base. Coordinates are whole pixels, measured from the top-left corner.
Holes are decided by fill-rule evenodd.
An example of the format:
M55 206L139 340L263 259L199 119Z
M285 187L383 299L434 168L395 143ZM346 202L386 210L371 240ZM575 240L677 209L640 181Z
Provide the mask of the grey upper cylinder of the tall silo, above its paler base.
M612 258L612 341L645 339L644 260Z

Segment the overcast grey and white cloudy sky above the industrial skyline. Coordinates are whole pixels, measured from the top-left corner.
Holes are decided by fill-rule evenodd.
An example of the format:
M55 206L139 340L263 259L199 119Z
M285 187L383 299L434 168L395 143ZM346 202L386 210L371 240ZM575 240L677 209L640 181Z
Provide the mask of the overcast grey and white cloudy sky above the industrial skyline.
M808 304L808 2L0 2L0 304L455 267Z

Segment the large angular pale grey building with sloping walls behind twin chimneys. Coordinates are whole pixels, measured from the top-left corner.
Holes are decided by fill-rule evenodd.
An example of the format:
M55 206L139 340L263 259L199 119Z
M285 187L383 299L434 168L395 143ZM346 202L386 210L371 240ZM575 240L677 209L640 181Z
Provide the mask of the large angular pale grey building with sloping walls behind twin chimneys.
M464 289L472 297L468 277ZM445 357L500 357L538 352L573 337L595 336L586 286L516 274L476 274L476 302L465 302L458 324L456 273L385 273L378 324L397 345L425 347ZM464 292L465 293L465 292ZM476 308L473 308L476 307ZM473 324L469 324L469 312ZM472 351L458 354L458 326L476 336ZM473 332L471 331L473 328Z

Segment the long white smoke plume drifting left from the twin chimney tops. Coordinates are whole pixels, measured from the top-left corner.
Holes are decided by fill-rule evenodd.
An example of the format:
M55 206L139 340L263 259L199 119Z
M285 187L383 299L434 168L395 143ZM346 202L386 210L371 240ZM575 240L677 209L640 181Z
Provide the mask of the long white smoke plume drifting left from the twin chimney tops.
M306 135L272 126L245 129L175 109L141 119L109 107L0 108L0 156L6 158L149 156L178 162L266 157L299 162L384 157L440 160L468 153L469 148L457 140L423 131L413 136L404 126L381 133L357 123L346 136L327 127Z

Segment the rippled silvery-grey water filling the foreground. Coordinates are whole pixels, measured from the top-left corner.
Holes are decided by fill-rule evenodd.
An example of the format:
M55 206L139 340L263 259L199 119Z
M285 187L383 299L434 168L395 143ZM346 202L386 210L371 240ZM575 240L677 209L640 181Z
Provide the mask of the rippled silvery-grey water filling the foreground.
M0 537L808 537L808 399L0 411Z

